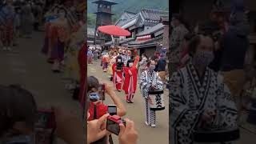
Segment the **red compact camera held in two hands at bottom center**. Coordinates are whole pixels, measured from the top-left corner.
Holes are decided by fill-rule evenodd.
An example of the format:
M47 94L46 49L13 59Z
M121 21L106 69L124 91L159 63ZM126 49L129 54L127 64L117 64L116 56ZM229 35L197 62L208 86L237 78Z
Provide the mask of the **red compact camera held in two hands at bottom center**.
M119 124L121 123L126 126L126 121L120 118L118 115L109 116L106 121L106 130L118 135L120 132Z

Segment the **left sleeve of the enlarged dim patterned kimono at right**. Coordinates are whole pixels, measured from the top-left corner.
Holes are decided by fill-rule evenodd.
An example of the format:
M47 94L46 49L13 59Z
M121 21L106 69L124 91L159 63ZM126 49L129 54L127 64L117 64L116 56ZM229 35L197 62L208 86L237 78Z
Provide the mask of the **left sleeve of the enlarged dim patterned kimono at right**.
M186 139L186 143L193 143L191 134L200 116L198 109L191 109L188 105L188 96L183 95L186 85L182 82L181 72L176 72L170 78L170 133L172 143L180 144Z

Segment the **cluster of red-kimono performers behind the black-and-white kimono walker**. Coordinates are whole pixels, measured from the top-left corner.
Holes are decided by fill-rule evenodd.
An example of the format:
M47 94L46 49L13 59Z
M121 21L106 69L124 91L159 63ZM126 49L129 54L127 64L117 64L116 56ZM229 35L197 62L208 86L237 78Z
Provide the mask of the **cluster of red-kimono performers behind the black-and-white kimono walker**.
M111 49L102 53L102 69L110 75L116 90L124 90L126 102L134 102L134 94L137 87L137 73L139 56L134 51L132 58L131 51L125 48Z

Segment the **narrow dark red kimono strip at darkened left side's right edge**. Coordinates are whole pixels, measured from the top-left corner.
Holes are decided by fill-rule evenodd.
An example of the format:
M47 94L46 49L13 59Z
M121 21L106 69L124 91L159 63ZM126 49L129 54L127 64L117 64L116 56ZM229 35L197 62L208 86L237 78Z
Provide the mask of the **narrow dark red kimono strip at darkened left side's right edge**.
M84 106L85 102L85 92L86 92L86 77L87 77L87 44L86 42L82 46L82 49L78 54L78 64L80 67L80 92L79 92L79 100Z

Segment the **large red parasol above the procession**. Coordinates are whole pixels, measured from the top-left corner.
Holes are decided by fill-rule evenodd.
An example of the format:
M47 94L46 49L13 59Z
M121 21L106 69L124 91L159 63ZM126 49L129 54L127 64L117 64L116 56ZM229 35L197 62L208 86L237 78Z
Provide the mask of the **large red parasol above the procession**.
M113 36L130 36L130 31L124 30L119 26L99 26L98 30L104 34L110 34Z

